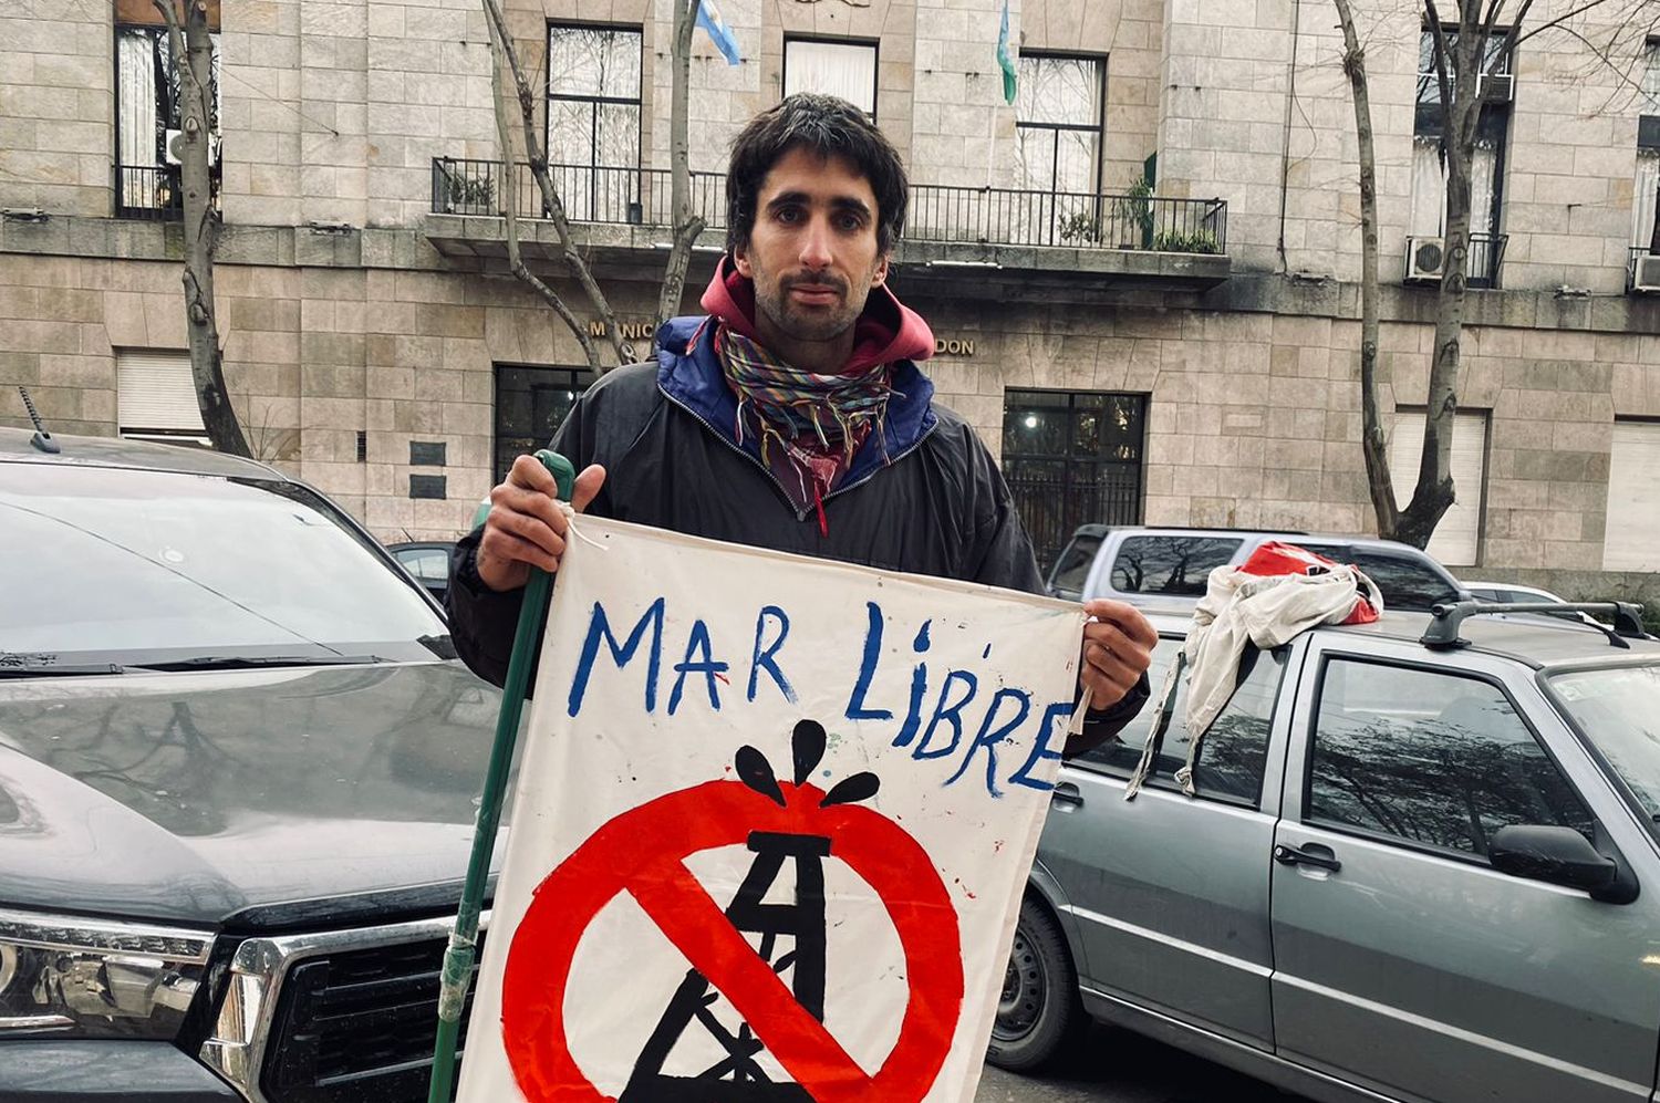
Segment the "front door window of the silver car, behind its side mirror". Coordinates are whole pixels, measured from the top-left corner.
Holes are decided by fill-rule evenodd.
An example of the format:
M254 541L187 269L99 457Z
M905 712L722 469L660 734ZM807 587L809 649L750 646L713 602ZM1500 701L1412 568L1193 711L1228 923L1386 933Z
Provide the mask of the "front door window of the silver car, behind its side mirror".
M1305 818L1464 854L1509 824L1592 818L1497 687L1333 658L1320 683Z

